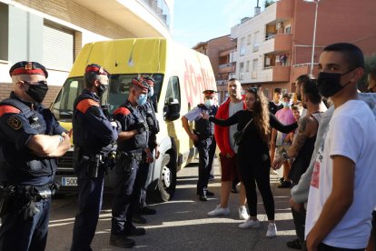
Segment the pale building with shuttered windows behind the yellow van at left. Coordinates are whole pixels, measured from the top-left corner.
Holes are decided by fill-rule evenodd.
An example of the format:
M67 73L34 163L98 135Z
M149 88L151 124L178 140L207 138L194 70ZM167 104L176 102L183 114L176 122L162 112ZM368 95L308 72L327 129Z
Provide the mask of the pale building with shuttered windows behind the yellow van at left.
M86 43L171 37L173 0L0 0L0 99L13 89L9 68L37 61L49 72L50 105Z

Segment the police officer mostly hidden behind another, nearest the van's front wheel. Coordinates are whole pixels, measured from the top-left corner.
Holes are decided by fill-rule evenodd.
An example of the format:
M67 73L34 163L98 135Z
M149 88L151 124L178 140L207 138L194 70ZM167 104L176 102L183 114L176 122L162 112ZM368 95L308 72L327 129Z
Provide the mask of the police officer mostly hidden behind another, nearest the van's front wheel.
M153 106L153 100L154 100L154 84L155 80L149 76L149 75L142 75L138 81L144 81L147 85L149 85L149 89L147 92L147 102L145 105L143 105L143 112L146 115L146 123L149 126L150 130L150 137L148 146L150 149L150 152L154 152L154 157L157 159L159 157L159 146L156 141L156 135L159 132L159 123L155 116L154 106ZM144 152L145 155L145 152ZM134 205L134 216L133 216L133 222L139 223L139 224L145 224L146 219L141 215L154 215L156 213L155 209L150 208L146 206L146 180L147 176L149 174L149 169L152 166L151 163L142 162L140 166L140 176L142 176L142 179L140 180L141 189L139 191L139 194L137 195L139 199L135 201Z

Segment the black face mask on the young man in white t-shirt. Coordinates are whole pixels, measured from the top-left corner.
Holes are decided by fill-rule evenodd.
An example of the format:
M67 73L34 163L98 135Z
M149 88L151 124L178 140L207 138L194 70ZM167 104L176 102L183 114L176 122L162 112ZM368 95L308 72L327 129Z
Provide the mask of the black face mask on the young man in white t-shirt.
M350 84L350 82L348 82L346 85L341 85L341 76L347 75L353 70L354 69L351 69L344 74L324 72L319 73L319 77L317 79L317 87L320 94L325 97L330 97L337 94L339 91L341 91L342 88Z

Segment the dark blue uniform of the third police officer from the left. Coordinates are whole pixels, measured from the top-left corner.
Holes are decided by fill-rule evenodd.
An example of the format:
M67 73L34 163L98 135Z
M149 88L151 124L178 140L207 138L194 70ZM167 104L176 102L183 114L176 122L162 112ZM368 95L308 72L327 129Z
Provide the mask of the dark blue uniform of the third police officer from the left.
M139 173L143 151L148 145L149 130L142 106L133 106L129 101L114 111L114 119L120 122L122 131L138 130L138 134L128 140L118 141L116 166L114 169L114 204L111 234L131 235L133 208L137 199L136 191L141 189L142 175Z

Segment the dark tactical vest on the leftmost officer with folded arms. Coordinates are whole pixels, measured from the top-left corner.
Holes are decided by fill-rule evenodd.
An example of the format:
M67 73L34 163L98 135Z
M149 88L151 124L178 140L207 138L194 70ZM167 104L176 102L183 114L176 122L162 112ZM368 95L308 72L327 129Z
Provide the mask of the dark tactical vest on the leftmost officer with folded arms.
M3 100L0 105L12 105L21 111L39 135L53 135L54 115L49 109L42 105L37 112L33 111L23 102L8 98ZM35 156L26 146L18 150L15 144L4 140L0 134L0 181L9 184L23 183L27 180L54 176L57 164L55 158L42 158Z

